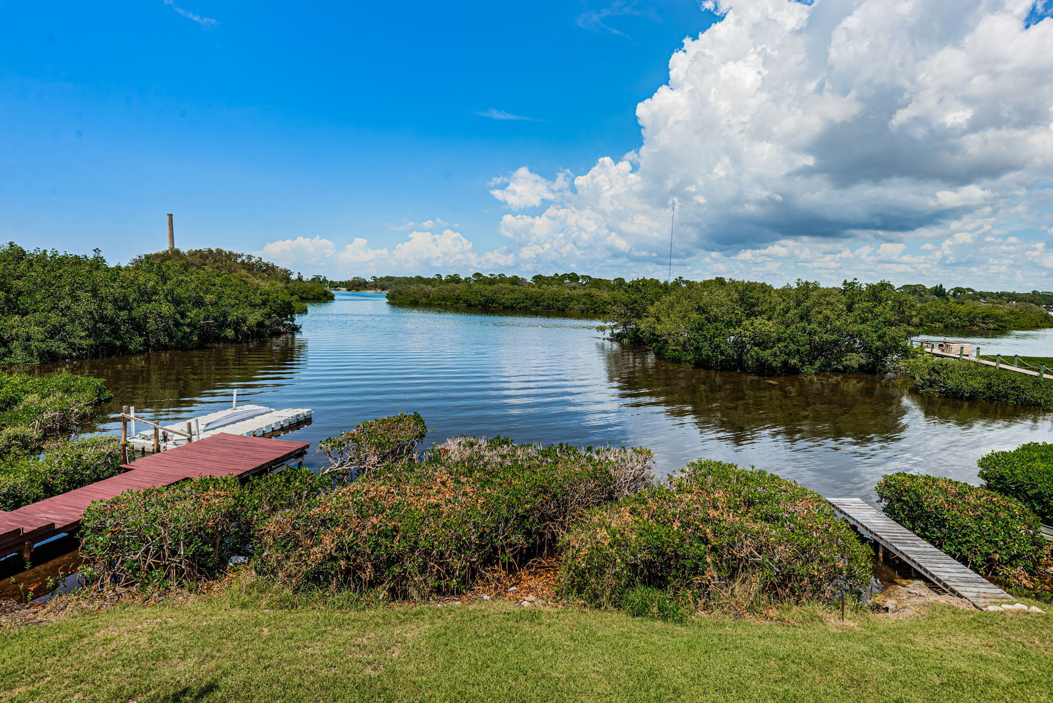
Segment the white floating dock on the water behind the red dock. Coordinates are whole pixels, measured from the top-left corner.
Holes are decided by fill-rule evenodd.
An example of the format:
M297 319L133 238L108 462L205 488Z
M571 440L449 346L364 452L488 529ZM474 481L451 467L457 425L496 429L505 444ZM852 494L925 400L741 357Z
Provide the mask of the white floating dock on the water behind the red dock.
M280 432L286 427L299 425L309 419L311 419L310 408L275 410L260 405L241 405L193 417L190 421L190 427L195 441L220 432L260 437ZM161 440L159 442L161 451L186 444L187 438L183 434L176 434L176 432L185 433L186 425L187 421L162 425L163 429L160 430ZM167 432L167 441L164 440L165 432ZM154 428L147 427L131 436L128 447L139 452L153 452Z

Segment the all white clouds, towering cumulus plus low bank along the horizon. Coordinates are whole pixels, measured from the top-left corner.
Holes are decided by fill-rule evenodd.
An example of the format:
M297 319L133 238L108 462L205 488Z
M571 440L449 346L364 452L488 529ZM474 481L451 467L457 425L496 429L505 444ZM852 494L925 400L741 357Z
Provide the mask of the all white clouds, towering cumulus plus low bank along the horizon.
M409 231L391 248L298 237L261 255L349 275L663 277L675 204L673 275L1053 288L1049 0L703 6L722 18L637 105L638 149L489 183L511 211L503 247L435 218L390 226Z

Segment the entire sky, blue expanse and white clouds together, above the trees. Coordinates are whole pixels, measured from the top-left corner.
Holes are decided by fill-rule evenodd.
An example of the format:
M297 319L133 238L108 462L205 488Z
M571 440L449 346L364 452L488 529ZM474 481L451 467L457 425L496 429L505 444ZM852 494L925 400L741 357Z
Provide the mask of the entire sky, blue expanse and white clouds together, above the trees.
M1053 1L701 5L0 0L0 236L1053 289Z

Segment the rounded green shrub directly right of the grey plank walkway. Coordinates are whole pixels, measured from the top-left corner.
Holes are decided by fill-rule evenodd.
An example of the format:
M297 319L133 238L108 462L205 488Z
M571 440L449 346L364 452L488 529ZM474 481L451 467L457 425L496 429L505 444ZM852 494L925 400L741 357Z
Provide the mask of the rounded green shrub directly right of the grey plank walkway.
M969 568L1033 587L1050 543L1018 501L940 476L892 473L874 487L885 512Z

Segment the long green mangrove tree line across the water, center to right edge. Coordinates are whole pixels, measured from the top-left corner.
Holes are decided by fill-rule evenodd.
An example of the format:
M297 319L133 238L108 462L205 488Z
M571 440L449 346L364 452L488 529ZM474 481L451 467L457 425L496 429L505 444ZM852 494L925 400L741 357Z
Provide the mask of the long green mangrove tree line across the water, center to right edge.
M942 286L895 288L887 281L775 287L721 277L660 281L577 273L376 280L384 278L394 304L592 314L610 325L613 338L668 358L757 373L876 372L906 355L907 340L925 328L1053 327L1053 315L1026 300L995 302Z

